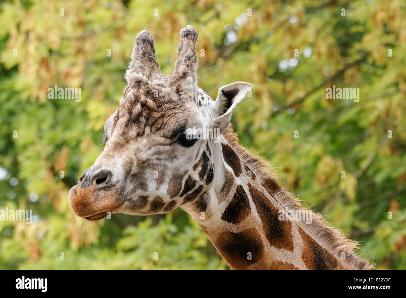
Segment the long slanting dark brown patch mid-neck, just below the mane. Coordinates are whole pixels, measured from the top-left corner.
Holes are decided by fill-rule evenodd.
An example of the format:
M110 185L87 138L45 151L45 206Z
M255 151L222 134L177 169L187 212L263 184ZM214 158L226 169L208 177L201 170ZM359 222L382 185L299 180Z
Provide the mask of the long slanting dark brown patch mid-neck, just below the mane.
M257 208L266 239L271 246L293 251L292 222L279 220L279 212L265 194L251 184L248 189Z

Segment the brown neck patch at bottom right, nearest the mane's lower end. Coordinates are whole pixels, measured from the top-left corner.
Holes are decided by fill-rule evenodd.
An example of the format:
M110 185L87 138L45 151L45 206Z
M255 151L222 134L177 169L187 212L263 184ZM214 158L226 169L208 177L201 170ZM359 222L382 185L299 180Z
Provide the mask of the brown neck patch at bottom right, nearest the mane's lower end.
M299 227L299 233L303 240L302 260L310 270L333 270L337 269L337 259L315 242Z

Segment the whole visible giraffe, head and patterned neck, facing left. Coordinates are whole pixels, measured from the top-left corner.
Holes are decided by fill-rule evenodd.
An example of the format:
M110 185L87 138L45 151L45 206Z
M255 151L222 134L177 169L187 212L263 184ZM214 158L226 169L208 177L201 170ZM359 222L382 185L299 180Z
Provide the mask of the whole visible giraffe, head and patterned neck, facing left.
M197 85L197 38L190 25L180 31L165 77L152 35L136 36L124 95L104 125L104 150L69 191L73 212L99 220L181 207L231 269L373 268L355 242L304 208L239 144L231 113L253 86L222 86L213 101ZM307 210L311 220L289 219L289 210Z

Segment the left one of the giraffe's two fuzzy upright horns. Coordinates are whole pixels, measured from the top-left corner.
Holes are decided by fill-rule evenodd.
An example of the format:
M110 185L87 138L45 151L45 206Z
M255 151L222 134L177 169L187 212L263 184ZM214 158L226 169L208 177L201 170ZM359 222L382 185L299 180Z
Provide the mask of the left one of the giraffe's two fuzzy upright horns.
M154 41L151 33L146 30L138 33L131 53L131 62L125 72L125 80L129 82L132 73L141 73L147 78L158 77L162 74L156 60Z

